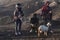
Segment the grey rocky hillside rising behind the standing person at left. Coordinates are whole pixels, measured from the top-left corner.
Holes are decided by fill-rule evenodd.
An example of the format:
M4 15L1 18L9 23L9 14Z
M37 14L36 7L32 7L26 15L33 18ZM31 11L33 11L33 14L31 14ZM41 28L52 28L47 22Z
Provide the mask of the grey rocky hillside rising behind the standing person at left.
M29 16L29 14L38 10L41 5L41 0L0 0L0 21L1 22L8 22L9 16L13 15L15 10L15 4L20 3L22 4L22 9L24 11L25 16ZM5 2L6 1L6 2ZM7 16L7 17L6 17ZM5 20L7 19L7 20ZM10 20L9 20L10 21Z

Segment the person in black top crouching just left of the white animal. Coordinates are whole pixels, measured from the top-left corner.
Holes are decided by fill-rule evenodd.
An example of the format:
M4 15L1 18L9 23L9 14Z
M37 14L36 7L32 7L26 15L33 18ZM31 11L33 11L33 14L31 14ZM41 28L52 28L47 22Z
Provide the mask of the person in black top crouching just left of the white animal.
M30 23L31 23L30 32L36 32L39 24L39 18L37 17L37 14L33 15L33 17L30 20Z

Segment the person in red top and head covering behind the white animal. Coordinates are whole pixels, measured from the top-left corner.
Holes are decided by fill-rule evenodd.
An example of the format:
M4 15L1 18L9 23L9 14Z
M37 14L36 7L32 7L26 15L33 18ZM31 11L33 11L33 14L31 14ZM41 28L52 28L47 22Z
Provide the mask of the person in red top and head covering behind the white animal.
M52 19L51 7L49 7L50 2L46 2L46 4L42 7L42 18L47 23Z

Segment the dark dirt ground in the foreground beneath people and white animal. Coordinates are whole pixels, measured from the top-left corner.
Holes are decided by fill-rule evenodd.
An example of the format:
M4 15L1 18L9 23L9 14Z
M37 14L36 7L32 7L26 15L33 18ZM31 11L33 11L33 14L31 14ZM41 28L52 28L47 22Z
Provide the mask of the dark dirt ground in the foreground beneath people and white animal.
M59 40L60 39L60 21L53 21L52 26L54 29L54 33L48 37L41 36L40 38L37 37L36 33L30 33L27 30L22 30L22 34L19 36L14 35L15 25L4 25L0 27L0 38L2 40ZM24 26L25 27L25 26ZM23 27L23 29L24 29Z

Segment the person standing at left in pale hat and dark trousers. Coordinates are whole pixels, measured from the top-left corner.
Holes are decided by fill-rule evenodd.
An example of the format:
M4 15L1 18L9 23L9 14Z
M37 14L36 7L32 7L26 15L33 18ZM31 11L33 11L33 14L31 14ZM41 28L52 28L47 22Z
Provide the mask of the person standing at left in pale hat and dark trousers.
M21 34L21 25L22 25L22 20L21 18L24 16L22 8L21 8L21 4L18 3L16 4L16 9L14 11L14 21L16 23L16 32L15 34Z

